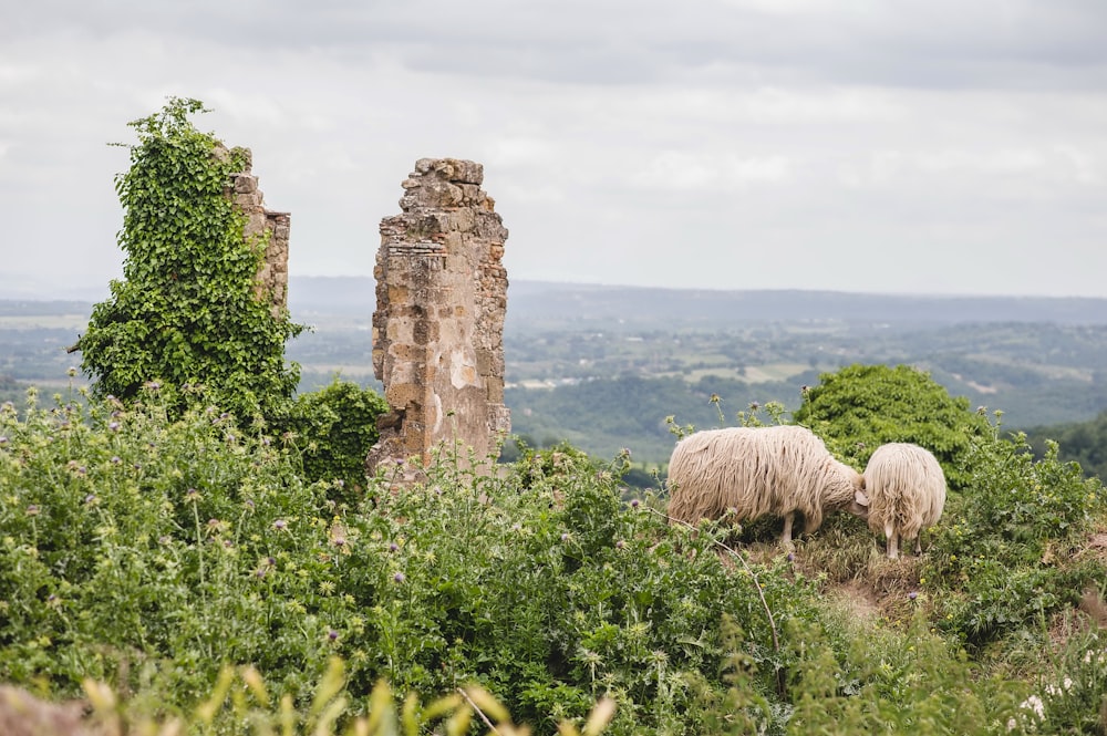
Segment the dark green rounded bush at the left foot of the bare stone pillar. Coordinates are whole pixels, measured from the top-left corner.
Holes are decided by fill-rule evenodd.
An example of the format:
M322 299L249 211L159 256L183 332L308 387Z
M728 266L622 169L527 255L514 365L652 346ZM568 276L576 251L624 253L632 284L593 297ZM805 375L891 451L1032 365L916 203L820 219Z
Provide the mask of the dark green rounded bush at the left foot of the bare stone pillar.
M309 481L325 480L356 498L365 487L365 456L380 436L376 417L389 408L372 388L334 379L330 385L297 396L278 424L303 462Z

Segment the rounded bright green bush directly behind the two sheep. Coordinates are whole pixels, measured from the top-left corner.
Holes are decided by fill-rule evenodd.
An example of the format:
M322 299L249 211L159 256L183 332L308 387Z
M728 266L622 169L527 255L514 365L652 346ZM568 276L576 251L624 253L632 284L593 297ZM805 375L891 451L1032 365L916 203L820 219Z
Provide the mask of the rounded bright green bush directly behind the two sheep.
M925 447L954 489L969 478L964 456L974 435L989 431L987 418L951 397L931 377L909 365L850 365L819 376L794 415L827 444L865 467L882 444L909 442Z

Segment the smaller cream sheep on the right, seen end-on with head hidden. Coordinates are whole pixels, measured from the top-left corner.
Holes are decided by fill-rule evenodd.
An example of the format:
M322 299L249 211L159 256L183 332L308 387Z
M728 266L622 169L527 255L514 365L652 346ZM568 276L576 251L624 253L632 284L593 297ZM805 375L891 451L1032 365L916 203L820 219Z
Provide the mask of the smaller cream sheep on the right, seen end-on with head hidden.
M927 449L910 443L889 443L872 453L865 467L869 496L869 528L883 532L888 559L899 557L900 541L914 540L922 553L919 532L942 518L945 474Z

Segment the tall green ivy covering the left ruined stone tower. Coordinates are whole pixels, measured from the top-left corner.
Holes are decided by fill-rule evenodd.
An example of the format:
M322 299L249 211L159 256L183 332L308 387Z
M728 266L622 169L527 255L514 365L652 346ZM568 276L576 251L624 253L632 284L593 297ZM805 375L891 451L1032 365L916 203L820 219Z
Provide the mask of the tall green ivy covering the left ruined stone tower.
M286 365L283 351L301 328L255 294L265 241L245 238L245 215L227 193L247 152L197 131L188 116L201 110L172 97L131 123L138 145L115 180L124 278L112 281L77 342L82 369L101 397L200 384L240 417L270 415L296 390L298 366ZM175 411L187 392L177 396Z

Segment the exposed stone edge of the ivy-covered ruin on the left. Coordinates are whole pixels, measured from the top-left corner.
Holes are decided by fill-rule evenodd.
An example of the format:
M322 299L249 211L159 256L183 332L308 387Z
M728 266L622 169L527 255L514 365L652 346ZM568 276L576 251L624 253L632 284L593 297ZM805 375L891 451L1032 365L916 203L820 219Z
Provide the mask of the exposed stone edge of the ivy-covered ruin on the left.
M238 151L245 152L246 165L241 172L231 175L226 194L246 215L244 235L247 238L266 231L269 234L254 293L258 299L270 302L270 310L276 318L288 307L288 237L291 215L271 212L265 208L258 177L252 174L254 156L249 148ZM216 155L220 155L218 151Z

